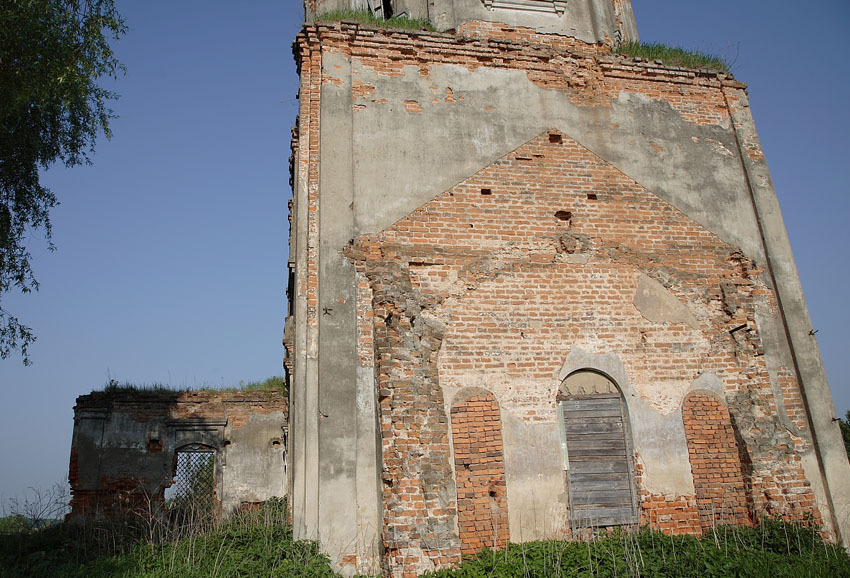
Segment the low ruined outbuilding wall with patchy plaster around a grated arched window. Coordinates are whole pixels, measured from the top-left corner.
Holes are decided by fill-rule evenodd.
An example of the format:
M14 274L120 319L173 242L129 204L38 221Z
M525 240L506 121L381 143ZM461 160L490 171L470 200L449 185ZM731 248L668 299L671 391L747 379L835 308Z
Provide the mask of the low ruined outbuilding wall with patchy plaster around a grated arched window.
M216 498L229 514L287 491L288 400L266 392L96 392L77 398L71 445L73 516L161 506L175 452L215 452Z

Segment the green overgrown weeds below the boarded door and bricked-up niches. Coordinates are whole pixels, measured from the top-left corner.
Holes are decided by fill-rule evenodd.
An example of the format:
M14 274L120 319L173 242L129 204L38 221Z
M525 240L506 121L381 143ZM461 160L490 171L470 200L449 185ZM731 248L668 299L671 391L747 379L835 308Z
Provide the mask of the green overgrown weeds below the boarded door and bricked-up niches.
M431 578L850 577L850 558L811 528L765 520L757 528L718 528L703 538L651 530L589 542L531 542L484 550Z

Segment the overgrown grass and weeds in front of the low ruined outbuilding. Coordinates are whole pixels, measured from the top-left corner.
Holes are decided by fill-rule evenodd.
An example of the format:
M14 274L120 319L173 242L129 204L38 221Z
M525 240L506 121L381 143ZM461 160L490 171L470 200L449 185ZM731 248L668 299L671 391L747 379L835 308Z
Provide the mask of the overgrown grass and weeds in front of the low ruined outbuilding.
M287 518L275 500L171 542L128 542L136 526L105 521L0 535L0 577L334 576L315 542L292 539Z

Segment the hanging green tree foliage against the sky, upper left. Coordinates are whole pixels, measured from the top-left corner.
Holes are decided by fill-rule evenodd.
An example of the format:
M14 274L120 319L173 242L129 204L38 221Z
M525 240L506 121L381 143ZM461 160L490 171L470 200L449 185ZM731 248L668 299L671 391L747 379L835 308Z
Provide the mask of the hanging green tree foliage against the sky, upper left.
M109 42L126 27L113 0L5 0L0 4L0 299L38 289L26 238L41 231L53 248L56 195L39 170L88 163L97 135L110 136L102 88L121 65ZM0 358L19 350L25 364L32 329L0 306Z

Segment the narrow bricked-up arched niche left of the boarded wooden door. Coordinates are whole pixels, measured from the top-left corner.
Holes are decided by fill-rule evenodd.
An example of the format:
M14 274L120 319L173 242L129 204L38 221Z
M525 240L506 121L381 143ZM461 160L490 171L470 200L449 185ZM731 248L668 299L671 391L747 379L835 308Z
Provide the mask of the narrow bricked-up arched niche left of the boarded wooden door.
M502 547L510 533L499 404L489 391L465 390L451 421L461 552Z

